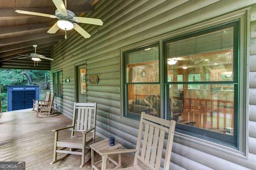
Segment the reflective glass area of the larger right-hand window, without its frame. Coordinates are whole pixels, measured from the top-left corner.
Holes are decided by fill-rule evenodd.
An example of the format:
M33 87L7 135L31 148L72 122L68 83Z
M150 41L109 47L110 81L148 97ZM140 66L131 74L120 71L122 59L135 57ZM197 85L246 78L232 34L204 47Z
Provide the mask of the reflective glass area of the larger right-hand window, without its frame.
M233 44L233 27L166 43L168 119L233 136Z

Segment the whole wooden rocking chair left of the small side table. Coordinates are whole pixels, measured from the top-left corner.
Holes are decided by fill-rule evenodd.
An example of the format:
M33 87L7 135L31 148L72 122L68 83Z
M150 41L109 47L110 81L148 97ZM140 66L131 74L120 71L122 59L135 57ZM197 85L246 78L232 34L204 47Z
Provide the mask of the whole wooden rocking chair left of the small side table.
M96 107L97 103L74 103L72 126L52 130L55 132L55 139L53 162L50 164L66 158L68 154L79 154L82 155L80 168L84 166L85 149L90 149L89 144L95 141ZM71 137L59 141L59 131L69 128L72 128ZM77 135L74 135L75 131L78 132ZM58 147L63 148L58 149ZM69 150L64 150L68 148ZM82 152L73 151L72 149L82 149ZM57 160L57 153L67 153L67 155Z

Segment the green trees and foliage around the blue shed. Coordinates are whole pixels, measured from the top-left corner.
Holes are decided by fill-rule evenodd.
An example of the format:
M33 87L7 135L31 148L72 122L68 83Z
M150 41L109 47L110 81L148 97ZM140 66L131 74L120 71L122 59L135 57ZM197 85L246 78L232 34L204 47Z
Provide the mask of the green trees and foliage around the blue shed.
M40 100L50 90L50 71L0 69L2 111L7 109L7 86L39 86Z

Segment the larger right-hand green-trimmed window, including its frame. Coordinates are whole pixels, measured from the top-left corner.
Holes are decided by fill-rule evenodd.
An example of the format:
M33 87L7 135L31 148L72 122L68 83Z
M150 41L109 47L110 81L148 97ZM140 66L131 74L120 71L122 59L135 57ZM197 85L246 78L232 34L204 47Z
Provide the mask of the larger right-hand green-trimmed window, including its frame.
M238 147L239 36L236 20L163 42L166 117L176 131Z

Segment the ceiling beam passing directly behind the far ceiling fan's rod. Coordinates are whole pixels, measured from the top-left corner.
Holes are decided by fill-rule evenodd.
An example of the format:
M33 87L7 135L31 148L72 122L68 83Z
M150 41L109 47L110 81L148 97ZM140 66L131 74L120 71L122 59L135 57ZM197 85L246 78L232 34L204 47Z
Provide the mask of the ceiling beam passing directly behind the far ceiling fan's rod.
M53 41L53 42L50 42L50 43L44 43L44 44L41 44L40 46L38 46L36 48L36 51L39 51L41 50L42 48L44 47L49 47L49 46L53 46L55 45L56 43ZM41 50L42 51L42 50ZM10 55L18 55L20 53L34 53L34 47L25 47L25 48L22 48L22 49L16 49L16 50L12 50L12 51L7 51L7 52L4 52L4 53L0 53L0 58L2 57L7 57L7 56L10 56ZM17 56L18 57L18 56Z

